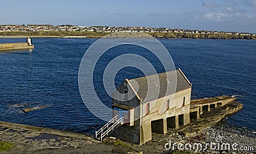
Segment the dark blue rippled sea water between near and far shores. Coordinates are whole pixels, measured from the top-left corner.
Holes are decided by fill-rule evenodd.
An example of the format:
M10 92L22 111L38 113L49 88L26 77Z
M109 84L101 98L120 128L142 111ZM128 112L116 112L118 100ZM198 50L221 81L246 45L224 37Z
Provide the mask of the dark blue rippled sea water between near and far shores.
M96 39L33 39L32 52L0 53L0 120L75 132L92 132L101 120L86 109L79 95L77 74L86 49ZM0 43L26 39L0 39ZM192 98L238 95L242 111L228 116L236 127L256 130L256 42L248 40L160 39L173 57L176 67L193 83ZM124 53L146 57L157 72L159 60L138 46L117 46L106 52L95 68L93 83L102 102L111 106L103 88L102 73L108 62ZM138 69L126 67L115 81L143 76ZM31 102L30 106L48 108L23 113L12 104Z

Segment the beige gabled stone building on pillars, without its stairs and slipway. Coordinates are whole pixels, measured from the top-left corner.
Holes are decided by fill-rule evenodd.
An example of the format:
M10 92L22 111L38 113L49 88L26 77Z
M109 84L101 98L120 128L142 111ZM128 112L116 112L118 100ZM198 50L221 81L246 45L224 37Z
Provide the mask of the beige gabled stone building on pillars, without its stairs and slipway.
M159 81L155 81L157 77ZM173 88L176 77L177 87ZM116 92L129 95L113 99L113 116L124 117L124 125L116 128L112 135L141 145L152 139L152 133L165 134L168 128L187 125L190 123L191 86L180 69L125 80ZM157 97L152 97L154 89L158 89ZM115 95L114 92L114 98ZM134 97L128 99L131 95Z

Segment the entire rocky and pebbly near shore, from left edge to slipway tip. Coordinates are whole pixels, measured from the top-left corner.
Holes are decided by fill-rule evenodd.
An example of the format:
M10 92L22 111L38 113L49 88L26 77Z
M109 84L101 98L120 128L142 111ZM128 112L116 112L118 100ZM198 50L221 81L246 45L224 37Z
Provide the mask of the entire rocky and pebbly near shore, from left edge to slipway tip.
M153 134L152 141L141 146L113 137L100 142L90 137L64 137L10 127L0 127L0 141L13 144L3 153L256 153L255 132L220 123L225 116L241 108L241 103L231 102L212 109L180 129L168 129L167 134ZM194 148L194 144L202 147Z

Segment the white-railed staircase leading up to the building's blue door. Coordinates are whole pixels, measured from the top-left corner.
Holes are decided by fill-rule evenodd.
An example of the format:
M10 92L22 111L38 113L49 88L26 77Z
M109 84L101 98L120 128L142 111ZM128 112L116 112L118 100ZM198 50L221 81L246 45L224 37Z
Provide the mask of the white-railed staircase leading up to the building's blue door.
M112 118L106 125L104 125L100 130L95 131L95 139L99 137L100 141L108 135L109 132L115 129L118 125L124 124L124 117L119 118L118 115L116 115L114 118Z

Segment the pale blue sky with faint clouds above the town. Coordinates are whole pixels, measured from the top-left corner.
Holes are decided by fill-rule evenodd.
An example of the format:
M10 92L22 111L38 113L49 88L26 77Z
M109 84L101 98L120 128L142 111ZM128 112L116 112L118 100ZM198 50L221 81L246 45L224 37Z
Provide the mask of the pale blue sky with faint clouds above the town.
M256 0L0 0L0 24L143 26L256 33Z

